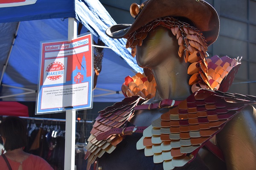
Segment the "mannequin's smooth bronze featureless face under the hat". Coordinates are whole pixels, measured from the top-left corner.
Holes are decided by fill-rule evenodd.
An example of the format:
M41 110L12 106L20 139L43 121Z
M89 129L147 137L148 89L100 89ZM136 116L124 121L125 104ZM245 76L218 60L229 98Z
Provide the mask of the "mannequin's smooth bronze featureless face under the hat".
M142 46L137 45L136 59L142 68L154 68L167 64L170 56L178 57L178 43L172 31L158 26L148 32ZM178 57L179 58L179 57Z

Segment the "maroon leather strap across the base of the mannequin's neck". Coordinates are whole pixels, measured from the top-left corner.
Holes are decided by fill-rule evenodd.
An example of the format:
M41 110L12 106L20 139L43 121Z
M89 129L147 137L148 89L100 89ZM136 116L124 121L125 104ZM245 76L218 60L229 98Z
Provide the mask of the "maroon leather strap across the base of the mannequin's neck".
M137 105L134 107L135 111L139 110L151 110L151 109L160 109L160 108L172 108L173 106L177 106L182 101L175 101L171 99L163 99L159 103L150 103L147 105Z

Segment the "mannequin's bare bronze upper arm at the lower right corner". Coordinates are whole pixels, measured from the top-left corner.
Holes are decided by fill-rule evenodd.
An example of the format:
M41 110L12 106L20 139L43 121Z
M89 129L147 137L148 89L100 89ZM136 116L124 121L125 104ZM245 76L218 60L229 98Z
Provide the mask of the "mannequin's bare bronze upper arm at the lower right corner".
M217 134L227 170L256 169L256 109L249 105Z

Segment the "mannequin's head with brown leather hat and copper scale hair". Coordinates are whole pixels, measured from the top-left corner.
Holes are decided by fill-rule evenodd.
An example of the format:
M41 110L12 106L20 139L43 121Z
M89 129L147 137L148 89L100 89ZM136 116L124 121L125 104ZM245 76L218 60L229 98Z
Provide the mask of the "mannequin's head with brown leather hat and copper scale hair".
M178 71L172 70L172 73L187 71L190 78L186 83L191 85L192 92L198 88L212 90L206 51L217 39L219 31L218 14L212 6L204 0L146 0L140 6L132 4L130 12L135 17L133 24L111 26L106 34L112 38L126 38L126 48L132 49L131 55L137 56L139 66L150 68L158 86L157 79L163 77L156 77L160 75L155 73L157 69L162 74L169 74L170 68L179 67ZM189 64L183 64L179 57ZM180 67L186 69L180 70ZM173 79L175 74L171 75L173 82L176 81ZM179 83L184 82L178 81L176 84Z

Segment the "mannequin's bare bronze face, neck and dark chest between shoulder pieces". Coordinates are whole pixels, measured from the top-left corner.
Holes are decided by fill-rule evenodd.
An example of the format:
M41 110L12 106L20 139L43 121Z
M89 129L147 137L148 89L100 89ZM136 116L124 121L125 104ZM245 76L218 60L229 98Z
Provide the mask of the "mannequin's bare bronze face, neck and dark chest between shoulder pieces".
M186 63L183 58L178 56L177 48L176 38L169 29L163 26L158 26L150 31L145 40L143 40L143 45L137 46L136 59L138 65L142 68L151 69L157 83L155 97L143 102L144 105L159 103L163 99L183 100L191 94L190 86L187 83L189 75L186 73L189 63ZM152 121L159 118L166 111L169 111L169 108L135 111L129 122L139 127L148 127ZM135 150L135 144L141 136L141 134L125 136L125 139L111 153L111 156L104 154L99 159L98 166L102 170L121 168L123 170L162 170L162 164L152 164L152 157L144 157L143 150ZM119 157L130 161L116 164L116 159ZM122 159L118 160L122 161ZM207 170L208 168L203 164L200 156L197 156L197 159L193 164L177 167L175 170L189 170L197 165L200 170Z

